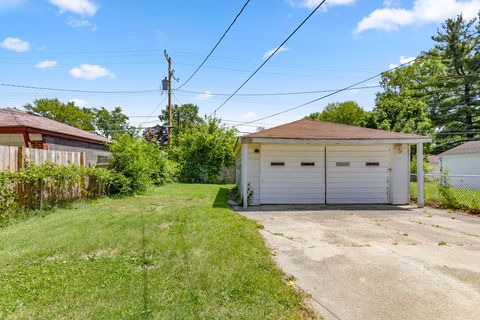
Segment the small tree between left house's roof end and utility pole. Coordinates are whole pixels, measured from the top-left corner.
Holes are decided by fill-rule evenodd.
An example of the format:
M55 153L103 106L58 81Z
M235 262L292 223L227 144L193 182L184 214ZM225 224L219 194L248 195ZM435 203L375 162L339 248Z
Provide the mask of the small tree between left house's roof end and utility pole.
M135 128L128 123L129 118L123 114L120 107L116 107L112 111L105 108L91 109L94 118L94 125L97 133L114 138L116 136L128 133L135 134Z

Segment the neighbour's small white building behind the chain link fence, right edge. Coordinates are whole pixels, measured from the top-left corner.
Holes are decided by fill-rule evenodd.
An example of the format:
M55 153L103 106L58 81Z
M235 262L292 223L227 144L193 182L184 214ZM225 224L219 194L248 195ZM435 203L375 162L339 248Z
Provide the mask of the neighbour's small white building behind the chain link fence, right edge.
M440 164L454 187L480 189L479 180L468 177L480 175L480 141L469 141L441 153Z

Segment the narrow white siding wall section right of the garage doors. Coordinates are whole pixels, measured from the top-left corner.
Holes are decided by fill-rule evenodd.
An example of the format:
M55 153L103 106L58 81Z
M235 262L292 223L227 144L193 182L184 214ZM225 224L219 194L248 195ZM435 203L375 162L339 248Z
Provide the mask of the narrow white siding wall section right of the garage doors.
M391 192L392 204L409 203L409 145L401 144L392 148Z

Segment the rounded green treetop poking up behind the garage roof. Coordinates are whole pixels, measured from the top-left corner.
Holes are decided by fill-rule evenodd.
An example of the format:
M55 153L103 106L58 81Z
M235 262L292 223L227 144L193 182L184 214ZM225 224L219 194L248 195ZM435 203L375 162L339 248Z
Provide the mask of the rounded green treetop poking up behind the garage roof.
M363 110L355 101L330 103L322 112L315 112L308 116L310 119L353 126L365 126L368 112Z

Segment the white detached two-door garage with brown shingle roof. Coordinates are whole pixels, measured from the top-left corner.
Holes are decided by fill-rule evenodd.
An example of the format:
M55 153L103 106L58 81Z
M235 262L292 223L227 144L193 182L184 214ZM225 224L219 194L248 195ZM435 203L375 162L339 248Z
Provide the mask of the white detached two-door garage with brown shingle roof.
M422 207L426 142L431 138L301 119L239 137L236 181L244 207L408 204L410 145L414 144L420 159Z

